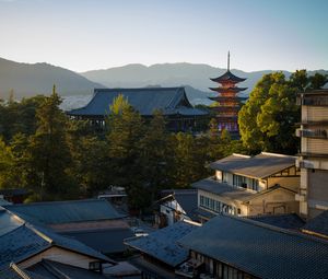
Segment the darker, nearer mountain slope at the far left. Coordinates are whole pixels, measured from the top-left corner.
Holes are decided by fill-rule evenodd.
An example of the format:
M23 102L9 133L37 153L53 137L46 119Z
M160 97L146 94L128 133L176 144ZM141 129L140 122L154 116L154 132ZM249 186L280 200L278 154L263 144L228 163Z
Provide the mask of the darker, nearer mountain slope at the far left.
M51 93L52 84L61 95L92 94L94 88L104 88L86 78L48 63L19 63L0 58L0 98Z

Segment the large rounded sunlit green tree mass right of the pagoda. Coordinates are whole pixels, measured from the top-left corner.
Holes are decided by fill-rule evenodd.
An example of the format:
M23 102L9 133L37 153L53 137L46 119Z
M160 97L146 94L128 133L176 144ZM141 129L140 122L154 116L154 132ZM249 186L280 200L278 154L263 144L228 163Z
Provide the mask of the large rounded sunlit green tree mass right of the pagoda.
M295 154L300 148L295 128L301 119L296 95L320 89L327 80L320 73L308 77L306 70L297 70L290 79L282 72L263 75L238 115L242 141L249 152Z

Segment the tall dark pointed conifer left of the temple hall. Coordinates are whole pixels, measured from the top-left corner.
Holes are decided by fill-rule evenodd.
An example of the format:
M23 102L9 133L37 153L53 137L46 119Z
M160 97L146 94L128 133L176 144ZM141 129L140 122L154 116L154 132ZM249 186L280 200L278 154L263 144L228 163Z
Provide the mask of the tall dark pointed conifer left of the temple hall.
M42 200L68 199L75 189L68 175L71 155L67 142L67 117L59 108L61 100L54 85L52 94L46 97L36 111L37 130L30 139L28 181Z

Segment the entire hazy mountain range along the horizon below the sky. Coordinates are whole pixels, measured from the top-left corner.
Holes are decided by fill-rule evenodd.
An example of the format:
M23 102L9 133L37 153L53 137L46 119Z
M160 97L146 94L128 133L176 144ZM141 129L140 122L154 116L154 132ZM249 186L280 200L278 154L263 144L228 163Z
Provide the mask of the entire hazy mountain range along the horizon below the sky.
M49 63L20 63L0 58L0 98L8 98L14 91L17 98L36 94L50 94L56 84L59 94L65 96L92 95L95 88L144 88L144 86L185 86L192 104L210 104L209 88L216 84L210 78L223 74L226 69L204 63L156 63L150 67L133 63L106 70L77 73ZM231 70L235 75L246 78L241 86L248 88L242 93L247 96L256 82L271 70L244 72ZM328 73L325 70L318 70ZM286 77L291 73L283 71ZM309 74L314 71L308 71ZM86 98L85 98L86 100ZM78 101L78 100L77 100ZM74 97L70 104L74 105ZM78 102L79 103L79 102Z

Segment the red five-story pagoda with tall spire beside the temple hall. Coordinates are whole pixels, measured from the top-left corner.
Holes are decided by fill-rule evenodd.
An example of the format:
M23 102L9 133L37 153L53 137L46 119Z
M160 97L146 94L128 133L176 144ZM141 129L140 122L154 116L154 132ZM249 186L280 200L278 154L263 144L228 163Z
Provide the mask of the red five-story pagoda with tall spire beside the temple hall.
M237 96L237 94L247 88L238 88L236 85L246 79L238 78L230 71L230 53L227 53L226 72L211 80L221 84L218 88L210 88L210 90L218 92L218 95L209 97L215 101L212 111L218 121L218 129L219 131L226 129L233 137L238 137L238 112L242 101L246 100L246 97Z

